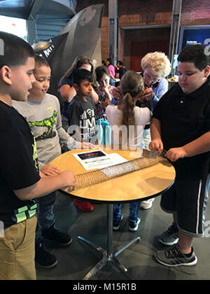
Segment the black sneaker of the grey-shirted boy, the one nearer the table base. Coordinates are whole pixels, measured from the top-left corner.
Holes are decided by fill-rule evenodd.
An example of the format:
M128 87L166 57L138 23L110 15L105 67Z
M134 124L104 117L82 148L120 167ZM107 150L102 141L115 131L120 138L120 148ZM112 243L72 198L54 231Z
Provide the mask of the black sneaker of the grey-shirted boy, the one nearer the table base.
M72 242L72 238L69 234L58 230L52 225L48 230L43 230L42 235L45 239L56 241L59 245L69 246Z

